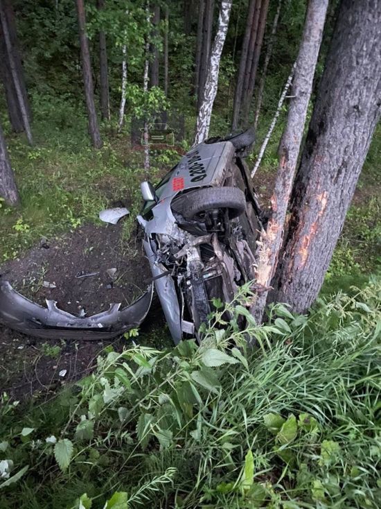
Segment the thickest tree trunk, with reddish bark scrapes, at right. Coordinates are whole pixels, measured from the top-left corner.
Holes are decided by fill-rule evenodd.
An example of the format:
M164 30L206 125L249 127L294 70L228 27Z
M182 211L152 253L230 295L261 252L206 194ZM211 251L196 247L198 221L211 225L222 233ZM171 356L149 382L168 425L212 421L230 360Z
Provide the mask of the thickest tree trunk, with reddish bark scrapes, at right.
M316 299L381 107L381 2L342 0L301 164L273 298Z

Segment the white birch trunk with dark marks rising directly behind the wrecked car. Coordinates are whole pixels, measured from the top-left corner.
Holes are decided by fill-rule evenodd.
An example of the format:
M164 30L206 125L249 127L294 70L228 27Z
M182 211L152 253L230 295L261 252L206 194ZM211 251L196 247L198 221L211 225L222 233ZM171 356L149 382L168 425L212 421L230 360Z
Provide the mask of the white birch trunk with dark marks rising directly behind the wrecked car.
M231 11L231 0L222 0L220 15L218 17L218 30L213 42L211 50L211 58L209 60L209 69L206 76L206 84L204 90L204 99L197 116L195 145L204 141L209 134L209 126L211 123L211 114L215 95L218 87L218 74L220 71L220 60L222 48L227 37L227 29L229 26L229 17Z

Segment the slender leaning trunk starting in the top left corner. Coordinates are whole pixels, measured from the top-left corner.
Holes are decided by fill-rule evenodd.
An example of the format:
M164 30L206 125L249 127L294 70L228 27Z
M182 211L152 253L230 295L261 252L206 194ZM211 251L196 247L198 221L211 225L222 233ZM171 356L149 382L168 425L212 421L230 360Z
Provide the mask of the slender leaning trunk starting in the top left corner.
M21 57L17 48L15 15L9 0L0 0L0 24L3 33L3 47L6 49L6 60L12 76L19 114L24 126L23 130L26 132L29 144L33 145L32 131L30 130L30 108L26 96ZM6 69L6 66L4 66L4 69Z

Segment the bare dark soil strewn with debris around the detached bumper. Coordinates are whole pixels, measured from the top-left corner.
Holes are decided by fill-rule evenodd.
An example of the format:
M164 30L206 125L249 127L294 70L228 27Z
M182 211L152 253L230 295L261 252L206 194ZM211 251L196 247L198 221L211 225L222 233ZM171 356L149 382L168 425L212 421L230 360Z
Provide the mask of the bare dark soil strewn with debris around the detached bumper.
M38 304L52 299L78 316L105 311L116 302L125 307L144 291L150 270L141 241L132 235L126 245L121 237L118 224L85 225L60 239L42 239L23 258L0 266L1 279ZM125 342L46 341L0 325L0 392L15 399L49 397L89 372L106 345L118 350Z

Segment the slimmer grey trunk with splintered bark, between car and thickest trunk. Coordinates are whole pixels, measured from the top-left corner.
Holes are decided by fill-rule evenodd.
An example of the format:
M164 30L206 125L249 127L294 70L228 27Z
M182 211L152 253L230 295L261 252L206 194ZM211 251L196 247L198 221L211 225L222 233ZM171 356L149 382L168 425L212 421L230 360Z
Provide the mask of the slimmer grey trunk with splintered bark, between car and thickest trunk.
M292 182L303 138L327 6L328 0L310 0L308 2L301 46L294 71L292 85L294 98L290 101L287 124L278 148L279 166L271 198L271 215L266 232L261 236L257 253L256 286L258 295L251 313L258 323L262 321L268 289L276 270L276 262L283 240L287 205L291 196Z

